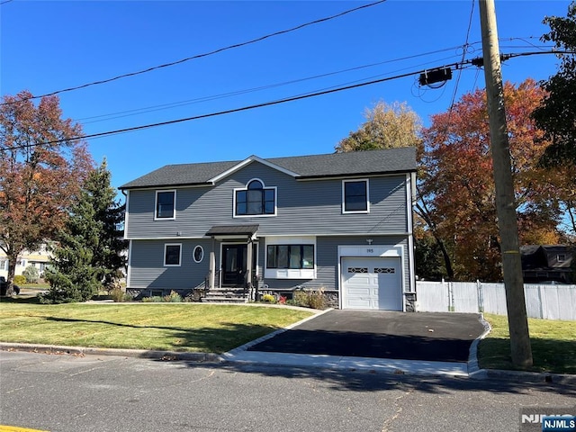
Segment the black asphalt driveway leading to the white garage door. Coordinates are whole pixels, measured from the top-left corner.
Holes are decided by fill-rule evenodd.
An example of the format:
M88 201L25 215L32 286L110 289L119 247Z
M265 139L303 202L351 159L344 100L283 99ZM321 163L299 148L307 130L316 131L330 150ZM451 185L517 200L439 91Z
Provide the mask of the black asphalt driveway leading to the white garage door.
M248 351L465 363L483 331L473 313L335 310Z

